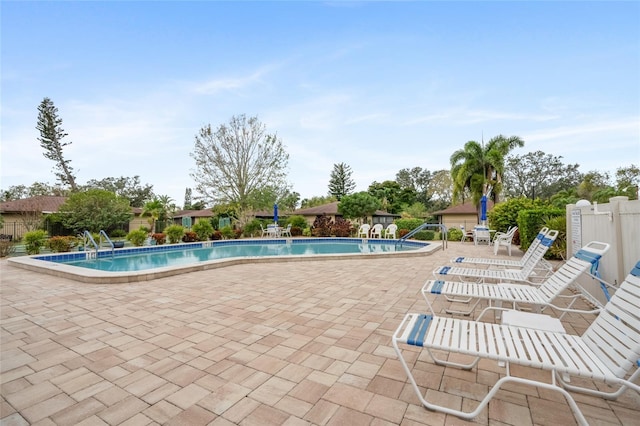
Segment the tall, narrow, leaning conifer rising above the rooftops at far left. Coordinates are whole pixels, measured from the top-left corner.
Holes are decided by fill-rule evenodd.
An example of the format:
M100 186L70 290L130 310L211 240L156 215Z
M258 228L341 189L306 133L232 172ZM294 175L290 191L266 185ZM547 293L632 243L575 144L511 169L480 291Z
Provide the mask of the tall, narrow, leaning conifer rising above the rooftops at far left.
M38 124L36 129L40 132L38 141L44 148L44 156L56 163L56 177L62 185L69 185L72 191L76 191L76 177L73 174L70 160L64 158L64 147L71 145L71 142L63 142L67 136L62 128L62 119L58 117L58 108L53 105L53 101L44 98L38 106Z

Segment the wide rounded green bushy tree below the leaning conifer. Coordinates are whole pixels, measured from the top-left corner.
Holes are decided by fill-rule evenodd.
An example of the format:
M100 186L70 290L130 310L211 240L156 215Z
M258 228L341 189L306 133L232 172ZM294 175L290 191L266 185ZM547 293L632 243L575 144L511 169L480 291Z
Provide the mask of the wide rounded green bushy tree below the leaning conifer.
M76 233L84 230L108 233L133 216L129 200L103 189L71 194L58 213L62 224Z

